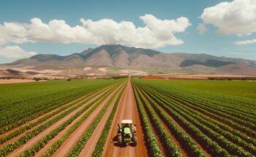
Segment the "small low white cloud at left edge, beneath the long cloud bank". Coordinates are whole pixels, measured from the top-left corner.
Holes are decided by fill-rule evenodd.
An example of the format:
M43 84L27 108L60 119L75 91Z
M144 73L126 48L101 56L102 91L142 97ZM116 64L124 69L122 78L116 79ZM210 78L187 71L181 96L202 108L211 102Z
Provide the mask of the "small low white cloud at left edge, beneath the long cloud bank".
M23 58L36 55L36 52L26 52L18 46L0 47L0 56L5 58Z

